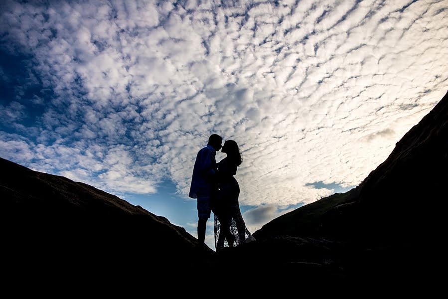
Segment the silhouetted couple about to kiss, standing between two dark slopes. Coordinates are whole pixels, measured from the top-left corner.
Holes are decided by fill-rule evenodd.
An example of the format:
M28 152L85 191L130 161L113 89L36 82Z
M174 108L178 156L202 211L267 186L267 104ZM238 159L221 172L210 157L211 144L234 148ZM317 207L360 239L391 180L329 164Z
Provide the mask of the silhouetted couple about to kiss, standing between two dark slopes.
M205 229L210 212L215 214L215 247L234 247L255 240L247 230L238 204L240 187L234 175L242 163L238 145L233 140L222 145L222 138L213 134L207 147L199 150L194 163L189 196L197 198L198 248L204 248ZM216 151L222 147L227 157L216 163Z

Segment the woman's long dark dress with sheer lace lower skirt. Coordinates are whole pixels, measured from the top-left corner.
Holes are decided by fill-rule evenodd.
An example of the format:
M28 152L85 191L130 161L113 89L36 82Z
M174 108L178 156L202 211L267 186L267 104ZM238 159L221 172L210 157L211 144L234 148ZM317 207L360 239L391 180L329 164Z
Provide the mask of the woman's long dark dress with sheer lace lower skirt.
M237 166L229 164L226 157L218 163L218 169L219 192L213 209L216 250L255 240L246 228L238 204L240 186L234 177Z

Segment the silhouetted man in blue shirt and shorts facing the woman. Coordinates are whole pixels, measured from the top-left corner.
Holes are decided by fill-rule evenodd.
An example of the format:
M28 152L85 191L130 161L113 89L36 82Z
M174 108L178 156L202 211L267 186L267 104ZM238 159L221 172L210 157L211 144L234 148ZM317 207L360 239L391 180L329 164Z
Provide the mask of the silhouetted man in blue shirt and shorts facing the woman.
M222 148L222 137L213 134L208 139L205 148L199 150L194 162L193 176L191 178L191 198L197 198L197 249L202 251L205 242L205 228L210 218L211 201L218 192L218 168L216 164L216 151Z

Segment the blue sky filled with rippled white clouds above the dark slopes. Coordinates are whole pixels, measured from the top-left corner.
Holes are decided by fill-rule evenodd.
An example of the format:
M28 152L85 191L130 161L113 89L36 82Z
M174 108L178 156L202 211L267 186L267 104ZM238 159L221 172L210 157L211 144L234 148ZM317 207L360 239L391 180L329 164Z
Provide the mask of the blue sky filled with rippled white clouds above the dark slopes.
M447 61L448 0L3 0L0 156L196 236L194 160L219 134L254 232L358 185L445 95Z

